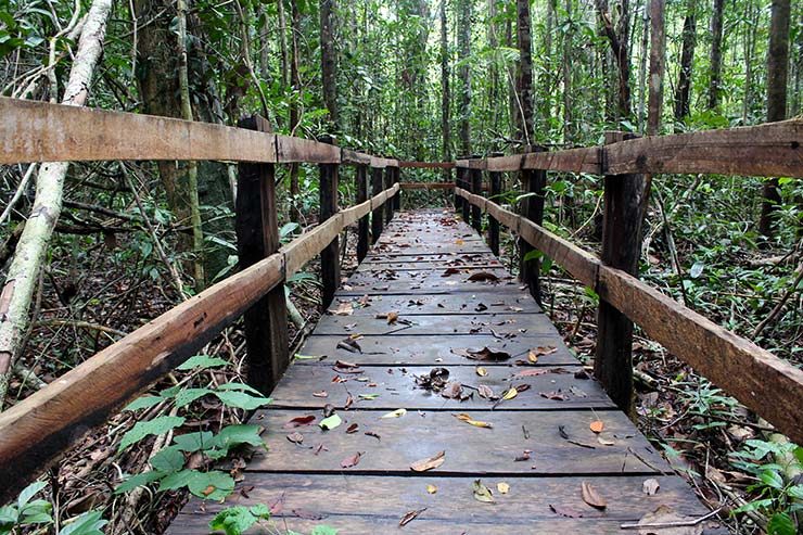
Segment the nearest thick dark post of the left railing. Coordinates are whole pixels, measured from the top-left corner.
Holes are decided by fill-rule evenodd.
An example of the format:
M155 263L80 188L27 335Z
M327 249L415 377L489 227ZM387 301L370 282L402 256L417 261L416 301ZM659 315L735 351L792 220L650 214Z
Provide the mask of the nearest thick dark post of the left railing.
M239 126L271 131L270 124L258 115L242 119ZM240 164L238 175L234 228L242 270L276 253L280 243L273 164ZM243 315L247 381L264 394L290 364L284 300L284 284L278 284Z

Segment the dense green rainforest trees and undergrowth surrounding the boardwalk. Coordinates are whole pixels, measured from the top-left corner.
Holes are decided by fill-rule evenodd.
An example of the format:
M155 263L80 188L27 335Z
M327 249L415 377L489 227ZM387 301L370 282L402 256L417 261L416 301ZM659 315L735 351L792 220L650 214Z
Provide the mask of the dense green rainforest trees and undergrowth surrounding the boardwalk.
M259 114L276 132L451 161L595 145L608 130L657 135L798 116L803 5L0 0L0 58L4 97L230 126ZM409 169L404 179L444 178ZM277 179L290 240L316 224L318 169L294 164L278 168ZM601 180L550 174L546 226L598 250ZM0 407L234 272L235 182L237 166L225 162L2 167ZM662 175L651 188L641 278L800 367L803 184ZM354 199L349 180L341 189L343 203ZM514 174L505 189L504 201L515 205ZM434 193L405 199L424 201L448 204ZM349 250L353 242L343 240ZM513 237L505 246L514 268ZM286 286L294 346L319 314L316 266L306 269ZM543 269L547 311L590 358L598 297L551 263ZM796 533L803 450L662 347L637 340L642 431L712 509L722 507L734 533ZM174 431L222 433L263 399L182 394L237 383L243 354L240 328L227 330L194 367L157 385L156 402L123 411L0 509L0 533L161 533L188 492L218 497L203 489L212 477L237 479L237 455L230 474L201 456L192 481L126 477L169 462L160 453ZM269 511L248 514L255 522Z

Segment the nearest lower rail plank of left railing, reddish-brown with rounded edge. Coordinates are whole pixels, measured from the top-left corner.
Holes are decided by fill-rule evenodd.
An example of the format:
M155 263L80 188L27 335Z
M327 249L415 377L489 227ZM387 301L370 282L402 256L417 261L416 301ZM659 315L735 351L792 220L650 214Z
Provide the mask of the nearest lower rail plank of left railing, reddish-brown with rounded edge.
M283 278L280 254L218 282L0 412L0 502L193 356Z

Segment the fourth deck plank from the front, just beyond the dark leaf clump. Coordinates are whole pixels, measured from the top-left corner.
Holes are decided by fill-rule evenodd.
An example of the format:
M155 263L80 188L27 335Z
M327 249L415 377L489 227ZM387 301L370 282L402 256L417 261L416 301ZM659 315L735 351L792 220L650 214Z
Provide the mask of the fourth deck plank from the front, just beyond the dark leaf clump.
M532 300L531 300L532 301ZM487 334L472 334L460 336L455 341L443 335L408 336L404 341L388 341L386 336L362 336L359 346L362 353L354 353L343 348L340 344L343 335L323 335L314 333L298 351L299 355L326 357L322 360L299 360L305 366L332 366L335 360L346 360L360 366L497 366L493 362L477 362L451 349L461 347L482 349L493 347L506 352L510 358L498 366L509 366L517 360L526 360L531 351L538 347L555 347L555 353L538 357L538 366L576 366L577 359L566 349L562 339L557 334L535 334L499 340ZM404 342L404 343L400 343Z

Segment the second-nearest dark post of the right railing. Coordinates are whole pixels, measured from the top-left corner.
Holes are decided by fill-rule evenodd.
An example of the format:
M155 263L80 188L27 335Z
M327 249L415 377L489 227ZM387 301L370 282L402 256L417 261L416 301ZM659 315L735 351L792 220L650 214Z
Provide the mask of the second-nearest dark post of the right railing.
M531 147L527 152L544 152L543 147ZM547 186L547 171L540 169L521 170L522 193L533 193L521 201L521 215L535 222L544 225L544 190ZM541 304L540 294L540 259L530 258L527 255L534 247L519 238L519 278L530 289L530 294L538 304Z

